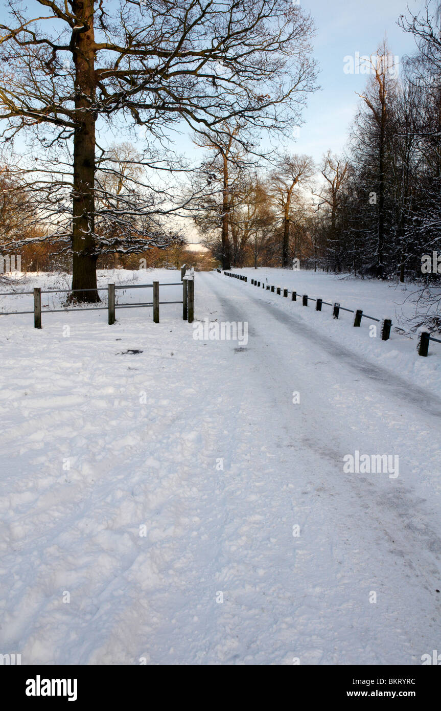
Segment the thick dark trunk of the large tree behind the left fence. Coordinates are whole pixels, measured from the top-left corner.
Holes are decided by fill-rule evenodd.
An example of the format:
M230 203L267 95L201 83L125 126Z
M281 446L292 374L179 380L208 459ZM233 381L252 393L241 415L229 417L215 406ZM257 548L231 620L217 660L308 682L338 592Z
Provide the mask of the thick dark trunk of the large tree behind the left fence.
M72 196L72 294L75 301L99 301L95 245L94 0L73 0L72 10L86 31L72 31L75 64L75 118ZM81 291L84 289L84 291Z

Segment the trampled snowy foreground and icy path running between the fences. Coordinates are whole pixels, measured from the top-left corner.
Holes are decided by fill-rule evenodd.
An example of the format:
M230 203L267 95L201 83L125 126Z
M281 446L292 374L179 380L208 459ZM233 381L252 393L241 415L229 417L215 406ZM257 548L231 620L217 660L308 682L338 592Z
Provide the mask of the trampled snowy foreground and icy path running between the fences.
M195 319L248 322L246 346L136 310L111 328L76 314L68 344L54 321L23 326L18 357L5 345L3 651L420 663L440 646L441 401L276 294L217 273L195 293ZM143 353L116 359L115 338ZM398 454L398 478L345 473L355 450Z

